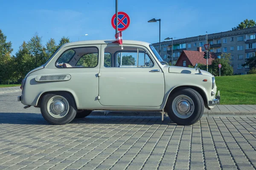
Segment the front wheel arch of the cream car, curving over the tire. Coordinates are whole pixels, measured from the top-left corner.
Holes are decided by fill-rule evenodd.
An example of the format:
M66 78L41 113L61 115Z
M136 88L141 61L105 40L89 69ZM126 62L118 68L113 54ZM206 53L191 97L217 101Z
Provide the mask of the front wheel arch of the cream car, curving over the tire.
M204 107L207 108L207 95L205 94L204 90L197 87L197 86L193 86L193 85L182 85L182 86L177 86L175 88L173 88L170 92L169 92L169 95L166 99L166 102L165 102L165 105L164 105L164 111L166 112L166 105L168 103L168 99L169 97L174 94L177 90L181 89L181 88L192 88L193 90L197 91L203 98L204 100Z

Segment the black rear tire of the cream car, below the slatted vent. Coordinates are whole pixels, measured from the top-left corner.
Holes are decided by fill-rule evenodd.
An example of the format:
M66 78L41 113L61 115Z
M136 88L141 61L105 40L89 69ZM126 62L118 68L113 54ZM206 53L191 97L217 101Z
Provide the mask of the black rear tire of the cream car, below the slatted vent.
M52 99L52 97L57 97L57 96L60 96L61 98L63 98L67 103L67 106L64 105L65 106L65 115L60 118L55 118L55 117L51 116L51 114L53 115L53 113L49 113L49 111L47 110L48 101L50 99ZM69 107L68 110L66 109L66 107ZM67 92L48 93L48 94L44 95L42 98L42 101L41 101L42 116L44 117L44 119L47 122L49 122L52 125L65 125L65 124L71 122L75 118L76 112L77 112L76 102L73 99L73 97Z

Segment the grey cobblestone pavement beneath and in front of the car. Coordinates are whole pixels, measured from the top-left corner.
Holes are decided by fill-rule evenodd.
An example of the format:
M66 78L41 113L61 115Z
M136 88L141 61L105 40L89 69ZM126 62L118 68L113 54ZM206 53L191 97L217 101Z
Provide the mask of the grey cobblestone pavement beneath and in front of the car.
M49 125L17 95L0 95L0 169L256 169L255 117L88 116Z

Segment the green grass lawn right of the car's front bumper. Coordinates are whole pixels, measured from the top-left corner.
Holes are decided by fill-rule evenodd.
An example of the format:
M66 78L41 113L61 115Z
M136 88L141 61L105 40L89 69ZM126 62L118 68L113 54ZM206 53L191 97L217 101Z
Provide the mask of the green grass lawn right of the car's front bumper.
M215 77L221 105L256 105L256 74Z

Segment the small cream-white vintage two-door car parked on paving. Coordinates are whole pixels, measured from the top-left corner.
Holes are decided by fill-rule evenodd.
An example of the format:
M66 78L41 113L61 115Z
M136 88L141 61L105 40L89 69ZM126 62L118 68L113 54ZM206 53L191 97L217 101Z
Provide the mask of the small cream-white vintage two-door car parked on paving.
M63 125L102 111L161 111L178 125L192 125L204 108L219 104L215 77L199 68L169 66L147 42L70 42L22 81L24 108L41 108L45 120ZM163 116L163 115L162 115Z

